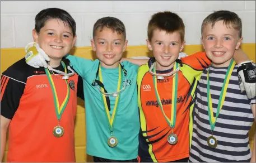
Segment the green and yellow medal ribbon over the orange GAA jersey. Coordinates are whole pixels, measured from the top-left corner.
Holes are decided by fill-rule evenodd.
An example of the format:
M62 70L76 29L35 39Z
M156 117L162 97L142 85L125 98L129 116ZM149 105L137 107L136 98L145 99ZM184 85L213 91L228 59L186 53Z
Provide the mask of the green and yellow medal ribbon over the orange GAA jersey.
M178 68L178 64L175 62L174 63L174 68L175 70ZM173 70L174 71L174 70ZM156 65L155 68L153 68L153 72L156 73ZM159 106L161 108L162 114L164 114L166 122L169 124L171 128L175 127L175 122L176 122L176 107L177 107L177 89L178 89L178 72L173 76L173 92L171 96L171 119L169 119L165 112L164 108L162 107L162 103L160 100L160 95L157 91L157 79L156 76L153 76L153 85L155 88L155 94L156 94L156 99L157 102L159 103Z

